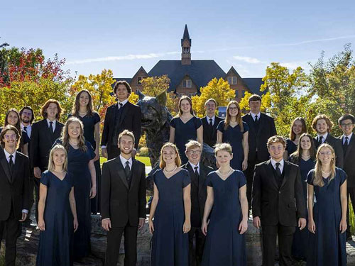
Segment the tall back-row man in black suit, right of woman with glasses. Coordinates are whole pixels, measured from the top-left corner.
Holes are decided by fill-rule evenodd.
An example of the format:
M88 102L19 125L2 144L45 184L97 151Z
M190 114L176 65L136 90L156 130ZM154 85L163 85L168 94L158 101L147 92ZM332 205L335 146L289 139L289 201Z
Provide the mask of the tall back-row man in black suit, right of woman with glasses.
M246 196L248 206L251 208L251 186L253 184L254 167L259 162L269 159L266 143L268 138L276 135L275 122L271 116L261 113L261 96L253 94L249 97L250 113L242 117L249 126L249 154L248 168L246 169Z

